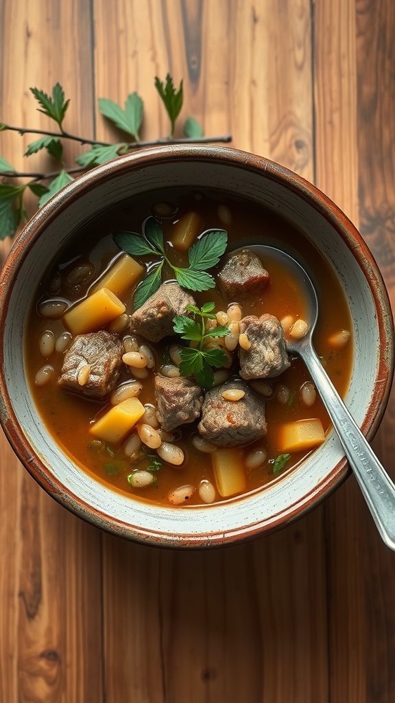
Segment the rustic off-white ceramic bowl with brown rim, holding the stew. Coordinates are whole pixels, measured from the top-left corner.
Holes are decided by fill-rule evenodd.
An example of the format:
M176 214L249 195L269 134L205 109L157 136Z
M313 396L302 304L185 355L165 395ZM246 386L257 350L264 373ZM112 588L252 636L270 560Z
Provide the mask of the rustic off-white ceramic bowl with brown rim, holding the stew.
M243 195L282 213L313 238L351 310L354 370L345 400L368 439L380 424L391 386L391 309L372 254L333 202L280 165L229 148L165 146L119 157L70 183L15 240L0 280L0 391L1 422L22 463L65 508L119 536L176 548L224 545L284 526L342 482L348 466L335 432L263 492L207 507L159 508L112 491L63 453L37 415L23 371L27 309L56 252L102 210L164 183Z

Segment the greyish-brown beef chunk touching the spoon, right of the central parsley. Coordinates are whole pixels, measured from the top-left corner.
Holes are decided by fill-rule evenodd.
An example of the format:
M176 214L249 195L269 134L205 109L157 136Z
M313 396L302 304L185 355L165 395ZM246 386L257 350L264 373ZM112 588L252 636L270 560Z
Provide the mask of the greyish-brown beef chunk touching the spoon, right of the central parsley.
M251 342L248 351L239 349L242 378L273 378L290 366L283 328L273 315L242 318L240 333L245 333Z

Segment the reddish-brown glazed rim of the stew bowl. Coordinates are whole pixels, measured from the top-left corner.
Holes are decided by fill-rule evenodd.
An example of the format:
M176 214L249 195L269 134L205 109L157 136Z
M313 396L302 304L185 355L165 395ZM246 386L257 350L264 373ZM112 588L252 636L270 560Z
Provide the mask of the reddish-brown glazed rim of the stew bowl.
M373 438L375 432L377 432L389 399L391 382L394 375L394 322L391 314L389 296L382 274L378 269L372 252L370 252L368 245L365 243L354 224L352 224L344 212L342 212L325 193L314 186L313 183L309 183L309 181L306 181L306 179L299 176L299 174L292 172L290 169L287 169L287 167L273 162L266 157L224 146L171 144L143 148L138 150L138 152L117 157L115 160L94 167L86 174L78 176L74 181L65 186L62 191L56 193L51 200L48 200L48 202L33 215L22 232L15 238L15 242L0 271L0 422L6 437L22 464L28 472L30 472L30 475L32 475L48 494L68 510L74 512L78 517L82 517L82 519L87 522L95 524L96 527L110 531L117 536L133 538L134 541L140 541L145 544L148 543L153 546L190 548L191 546L213 546L213 544L207 536L202 536L200 540L194 539L190 541L188 538L183 538L181 535L181 541L174 541L164 533L160 535L157 533L146 535L136 534L133 530L133 526L110 517L96 510L96 508L92 508L87 503L84 503L82 498L75 496L73 491L60 482L59 479L48 474L44 460L41 460L40 456L32 456L32 453L29 451L28 441L15 415L11 399L8 397L8 384L4 377L4 323L6 321L8 302L11 296L12 282L15 276L18 275L22 262L25 260L27 254L34 246L37 238L41 236L46 226L48 226L53 219L56 219L60 212L67 209L75 199L78 199L85 193L89 193L93 188L107 181L108 178L122 176L127 174L130 170L138 171L138 169L143 169L149 165L163 165L164 162L182 161L204 161L205 163L214 163L219 166L231 165L233 167L242 167L246 169L247 172L257 174L262 174L262 172L264 172L266 178L283 184L288 190L297 193L299 197L309 202L309 205L311 205L313 209L316 209L317 212L330 222L344 243L346 243L347 247L353 250L354 257L357 259L359 266L361 266L361 269L363 269L365 273L369 274L366 278L374 300L377 314L377 326L380 331L380 345L382 347L380 368L377 374L377 379L380 378L382 381L380 385L376 383L368 412L361 425L361 429L368 439ZM310 493L304 496L302 507L301 501L294 506L290 506L290 511L287 513L285 519L282 517L282 514L280 514L279 516L274 516L269 525L255 523L254 529L248 531L247 534L233 535L232 532L228 530L226 534L223 534L222 538L215 542L215 545L221 546L226 543L245 541L258 534L268 534L278 527L288 524L326 498L347 475L349 475L349 467L346 459L342 458L342 460L335 465L330 474L325 477L325 480L319 486L316 486L313 495Z

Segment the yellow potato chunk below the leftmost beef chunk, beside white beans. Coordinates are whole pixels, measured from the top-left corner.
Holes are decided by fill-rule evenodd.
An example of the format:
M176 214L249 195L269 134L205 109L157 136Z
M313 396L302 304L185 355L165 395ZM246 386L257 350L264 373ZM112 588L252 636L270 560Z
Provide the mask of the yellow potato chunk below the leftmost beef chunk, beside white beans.
M145 407L138 398L127 398L97 420L89 432L98 439L116 444L126 437L144 413Z

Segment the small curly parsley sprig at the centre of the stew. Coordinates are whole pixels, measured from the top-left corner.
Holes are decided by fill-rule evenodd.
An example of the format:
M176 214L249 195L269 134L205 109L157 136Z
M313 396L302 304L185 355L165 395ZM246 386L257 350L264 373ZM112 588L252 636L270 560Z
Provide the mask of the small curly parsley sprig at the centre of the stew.
M199 309L194 305L188 305L188 312L200 317L200 322L192 320L186 315L177 315L174 318L174 332L181 335L181 339L198 342L195 349L184 347L181 349L180 373L183 376L195 376L197 383L203 388L211 388L214 383L212 366L221 368L228 361L228 356L224 349L204 349L207 337L225 337L229 333L228 327L217 325L214 330L206 331L205 318L215 319L212 314L215 304L205 303Z

